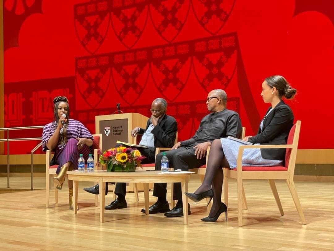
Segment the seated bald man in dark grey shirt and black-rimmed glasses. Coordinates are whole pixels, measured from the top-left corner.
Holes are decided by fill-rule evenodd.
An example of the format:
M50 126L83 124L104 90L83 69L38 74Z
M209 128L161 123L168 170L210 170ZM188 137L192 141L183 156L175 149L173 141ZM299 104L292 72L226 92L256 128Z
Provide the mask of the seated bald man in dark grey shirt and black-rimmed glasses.
M172 150L165 152L169 161L169 167L188 171L189 168L197 168L205 164L206 150L215 139L232 136L239 138L242 133L242 125L239 114L226 109L227 95L223 90L209 92L206 105L211 112L202 118L195 135L188 140L176 143ZM155 169L161 169L162 153L159 153L155 161ZM166 183L154 183L153 196L158 197L156 203L149 207L149 214L165 213L167 217L183 216L181 183L174 183L173 199L178 200L176 206L169 211L166 200ZM145 213L145 208L141 210ZM188 205L188 215L190 207Z

